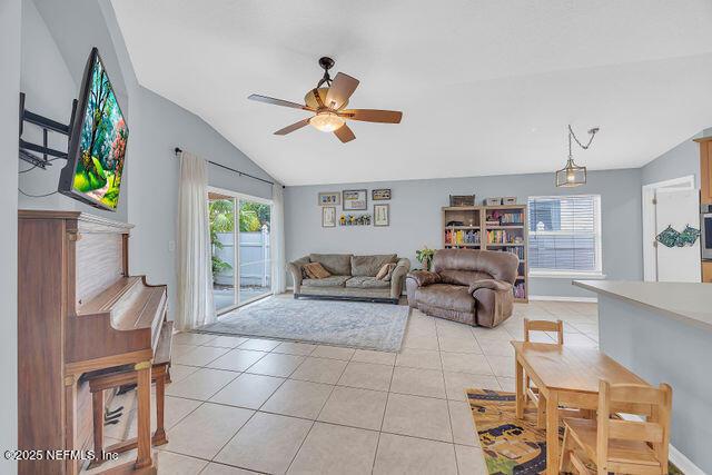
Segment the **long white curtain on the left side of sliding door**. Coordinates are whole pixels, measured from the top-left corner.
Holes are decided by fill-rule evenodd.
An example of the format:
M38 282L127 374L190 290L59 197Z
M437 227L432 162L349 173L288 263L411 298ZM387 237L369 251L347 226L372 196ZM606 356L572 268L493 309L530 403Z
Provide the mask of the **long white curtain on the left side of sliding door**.
M178 189L178 308L176 324L186 330L215 321L206 162L180 154Z

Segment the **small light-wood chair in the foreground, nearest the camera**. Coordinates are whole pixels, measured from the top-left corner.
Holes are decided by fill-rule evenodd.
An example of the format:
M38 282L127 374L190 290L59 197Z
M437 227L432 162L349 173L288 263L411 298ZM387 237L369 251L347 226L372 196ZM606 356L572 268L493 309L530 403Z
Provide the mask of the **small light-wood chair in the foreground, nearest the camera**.
M564 419L560 469L599 475L666 474L672 389L644 385L612 385L602 380L597 420ZM623 420L615 413L645 415ZM613 418L611 417L613 415Z

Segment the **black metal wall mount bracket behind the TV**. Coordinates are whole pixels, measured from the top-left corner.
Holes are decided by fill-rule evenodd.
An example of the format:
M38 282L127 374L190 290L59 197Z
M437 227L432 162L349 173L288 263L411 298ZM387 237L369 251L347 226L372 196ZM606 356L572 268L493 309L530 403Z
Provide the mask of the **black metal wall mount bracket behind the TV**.
M48 157L57 157L67 159L68 152L56 150L48 146L48 135L50 131L61 133L67 136L67 141L71 137L71 130L73 128L75 121L75 112L77 111L77 99L72 101L71 105L71 118L69 125L65 125L58 122L56 120L49 119L47 117L40 116L39 113L31 112L24 108L24 92L20 92L20 151L19 158L27 161L28 164L46 169L46 167L52 165L52 160ZM32 144L22 139L22 131L24 129L24 122L36 125L42 129L42 145ZM41 154L42 156L37 156L36 154Z

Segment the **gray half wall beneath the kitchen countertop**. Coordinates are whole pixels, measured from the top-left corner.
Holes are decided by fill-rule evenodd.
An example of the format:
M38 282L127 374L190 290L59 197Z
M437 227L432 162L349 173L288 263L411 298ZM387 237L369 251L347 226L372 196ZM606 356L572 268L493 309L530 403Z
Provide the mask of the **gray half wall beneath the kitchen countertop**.
M673 388L671 444L704 473L712 473L710 327L603 294L599 316L603 352L647 383Z

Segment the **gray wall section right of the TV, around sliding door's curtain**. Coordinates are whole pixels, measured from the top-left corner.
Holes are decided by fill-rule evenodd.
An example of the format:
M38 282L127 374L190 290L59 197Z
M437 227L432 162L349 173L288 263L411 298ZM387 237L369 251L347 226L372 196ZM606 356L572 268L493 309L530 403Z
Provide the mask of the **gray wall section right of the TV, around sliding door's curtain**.
M168 284L171 307L176 308L177 256L170 246L176 241L179 161L174 148L179 146L245 171L258 174L259 170L212 128L174 102L141 87L129 101L135 119L130 125L134 141L127 150L131 154L127 155L129 221L136 226L129 247L131 274L146 274L151 283ZM271 197L269 185L238 178L211 165L208 166L208 181L235 191Z

